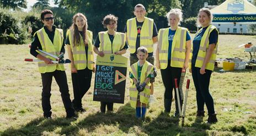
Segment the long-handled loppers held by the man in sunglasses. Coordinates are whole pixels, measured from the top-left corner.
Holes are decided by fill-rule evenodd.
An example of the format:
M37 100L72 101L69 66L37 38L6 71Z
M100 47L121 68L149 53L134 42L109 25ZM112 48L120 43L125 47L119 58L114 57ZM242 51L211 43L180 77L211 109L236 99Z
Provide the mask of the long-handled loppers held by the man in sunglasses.
M31 47L31 45L29 45L29 47ZM52 55L51 53L42 51L40 49L38 49L38 51L43 53L46 56L50 56L52 58L55 58L56 61L51 60L52 63L71 63L70 59L63 59L64 58L64 53L63 52L61 52L61 54L59 56L55 56L55 55ZM28 61L28 62L44 62L41 59L31 59L31 58L25 58L24 61Z

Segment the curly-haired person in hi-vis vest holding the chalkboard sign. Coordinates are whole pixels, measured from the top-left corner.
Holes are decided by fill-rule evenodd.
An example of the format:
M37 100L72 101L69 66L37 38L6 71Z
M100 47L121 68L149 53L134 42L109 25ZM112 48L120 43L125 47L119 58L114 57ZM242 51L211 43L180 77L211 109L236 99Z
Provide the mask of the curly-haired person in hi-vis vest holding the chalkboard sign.
M93 50L100 57L105 54L123 55L128 48L126 44L126 36L122 32L117 32L118 17L108 14L103 18L102 24L108 31L99 32L94 43ZM100 48L100 49L98 49ZM113 102L100 102L100 112L105 113L106 107L108 112L113 112Z

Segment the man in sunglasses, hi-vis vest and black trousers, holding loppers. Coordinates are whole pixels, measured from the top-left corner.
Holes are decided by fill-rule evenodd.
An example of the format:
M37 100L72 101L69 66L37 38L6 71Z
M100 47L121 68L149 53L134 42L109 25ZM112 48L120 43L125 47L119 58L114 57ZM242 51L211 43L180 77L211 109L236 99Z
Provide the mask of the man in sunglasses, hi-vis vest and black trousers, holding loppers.
M55 60L54 58L36 52L36 50L40 49L55 56L65 53L63 30L57 29L54 26L53 13L49 9L42 10L41 21L44 23L44 27L35 32L30 53L44 61L38 64L42 77L42 110L44 111L44 117L47 119L51 118L50 96L52 77L54 77L60 88L61 98L67 113L66 118L76 119L70 94L68 93L67 77L63 64L54 64L51 61Z

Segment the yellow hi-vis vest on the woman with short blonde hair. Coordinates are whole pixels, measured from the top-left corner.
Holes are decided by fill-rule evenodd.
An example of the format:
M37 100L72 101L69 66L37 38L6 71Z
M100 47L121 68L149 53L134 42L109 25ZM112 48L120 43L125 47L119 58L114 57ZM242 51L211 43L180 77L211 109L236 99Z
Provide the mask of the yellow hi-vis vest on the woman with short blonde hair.
M170 66L182 68L186 53L186 32L188 29L178 26L172 42L172 56ZM189 31L188 31L189 32ZM168 64L169 28L159 30L159 61L161 69L166 69Z

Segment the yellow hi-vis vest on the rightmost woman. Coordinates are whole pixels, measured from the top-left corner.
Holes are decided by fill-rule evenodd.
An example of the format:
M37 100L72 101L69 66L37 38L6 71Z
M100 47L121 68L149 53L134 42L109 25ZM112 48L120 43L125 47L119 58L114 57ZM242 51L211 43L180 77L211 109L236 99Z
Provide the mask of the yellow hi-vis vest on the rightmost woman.
M209 48L209 36L210 36L210 33L212 32L212 30L214 30L214 29L216 29L216 27L214 25L209 25L208 28L205 30L205 33L202 36L202 39L200 42L200 47L199 47L199 51L198 51L198 57L196 57L195 67L198 67L198 68L202 67L202 63L204 62L206 52ZM202 28L198 32L200 32L201 30L202 30ZM198 34L198 32L196 32L196 34ZM206 64L205 69L214 70L217 47L218 47L218 42L214 48L214 51L212 52L209 62Z

